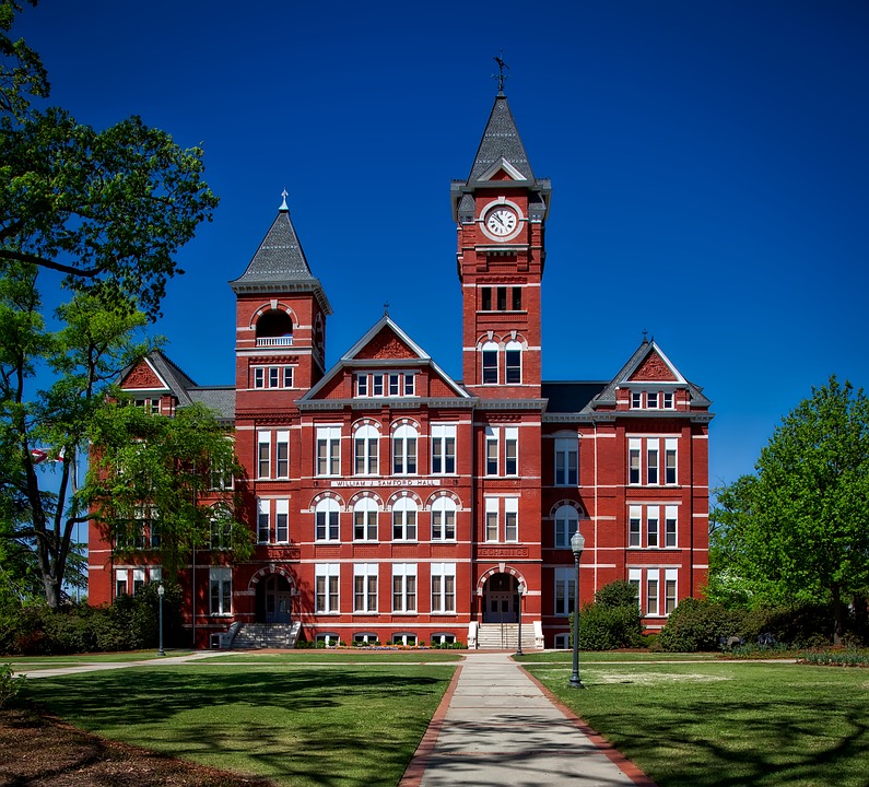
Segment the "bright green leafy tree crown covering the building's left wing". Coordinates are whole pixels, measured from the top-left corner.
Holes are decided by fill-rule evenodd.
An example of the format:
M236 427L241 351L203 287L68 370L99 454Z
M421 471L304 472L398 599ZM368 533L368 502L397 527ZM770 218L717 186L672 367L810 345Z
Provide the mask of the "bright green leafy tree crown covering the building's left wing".
M231 482L242 468L213 411L195 403L146 414L121 400L93 419L90 438L98 450L84 498L116 556L153 550L169 580L197 549L249 556L251 529L236 518Z

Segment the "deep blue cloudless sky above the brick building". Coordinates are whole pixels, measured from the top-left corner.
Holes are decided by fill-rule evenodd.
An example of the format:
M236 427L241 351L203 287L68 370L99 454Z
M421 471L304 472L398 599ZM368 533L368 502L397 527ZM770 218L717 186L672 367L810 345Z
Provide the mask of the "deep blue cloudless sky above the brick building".
M862 0L42 0L16 32L51 102L202 144L221 197L155 331L234 375L234 297L280 192L334 314L383 314L461 376L449 181L496 92L550 177L548 379L609 379L654 336L717 413L711 482L750 472L833 373L869 388L869 3Z

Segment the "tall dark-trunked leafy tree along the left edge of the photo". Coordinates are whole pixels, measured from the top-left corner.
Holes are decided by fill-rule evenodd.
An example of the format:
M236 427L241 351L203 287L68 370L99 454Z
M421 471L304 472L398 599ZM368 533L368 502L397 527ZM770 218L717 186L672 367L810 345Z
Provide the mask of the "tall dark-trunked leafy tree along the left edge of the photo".
M35 109L49 84L38 55L9 35L21 10L0 0L0 539L57 607L89 517L75 472L92 422L118 373L153 346L133 337L160 314L183 272L178 249L218 200L202 151L138 117L97 131ZM72 293L57 330L40 272L61 273Z

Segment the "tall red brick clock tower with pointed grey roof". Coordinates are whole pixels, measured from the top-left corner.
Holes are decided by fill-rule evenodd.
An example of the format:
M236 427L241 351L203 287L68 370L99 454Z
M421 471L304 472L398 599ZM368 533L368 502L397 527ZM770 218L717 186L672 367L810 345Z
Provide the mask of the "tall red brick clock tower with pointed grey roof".
M484 399L540 397L540 282L551 187L535 177L503 90L466 180L450 188L462 373Z

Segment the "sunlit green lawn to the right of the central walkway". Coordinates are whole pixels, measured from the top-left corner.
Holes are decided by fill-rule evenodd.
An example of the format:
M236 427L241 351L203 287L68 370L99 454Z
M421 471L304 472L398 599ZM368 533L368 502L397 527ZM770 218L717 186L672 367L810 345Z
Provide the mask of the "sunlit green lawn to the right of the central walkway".
M524 666L659 787L867 785L867 670L585 658L580 691L569 660Z

